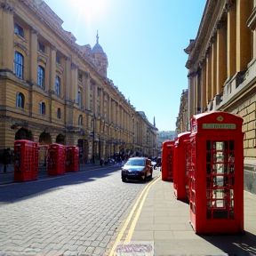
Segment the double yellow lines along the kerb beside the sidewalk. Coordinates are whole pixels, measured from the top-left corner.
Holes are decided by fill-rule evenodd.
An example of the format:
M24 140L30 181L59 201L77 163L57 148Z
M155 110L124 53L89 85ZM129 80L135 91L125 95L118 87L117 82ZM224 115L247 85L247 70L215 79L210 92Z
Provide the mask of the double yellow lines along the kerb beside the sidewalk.
M151 188L151 186L157 181L160 180L161 176L157 177L156 179L152 180L151 182L148 183L148 185L142 190L142 192L140 193L140 196L138 197L136 203L133 205L132 207L132 211L130 212L129 216L127 217L127 219L124 222L124 226L123 228L120 230L118 236L116 237L116 242L115 244L112 246L112 249L110 251L110 253L108 254L108 256L113 256L113 253L115 252L116 246L117 244L120 244L120 242L122 241L122 238L124 236L124 232L125 230L127 230L128 225L130 224L130 222L132 221L132 224L128 230L127 235L125 236L124 244L128 244L129 242L131 242L132 239L132 234L134 231L134 228L136 226L136 223L140 217L140 212L142 210L143 204L145 202L146 197L148 196L148 191ZM133 217L133 220L132 220Z

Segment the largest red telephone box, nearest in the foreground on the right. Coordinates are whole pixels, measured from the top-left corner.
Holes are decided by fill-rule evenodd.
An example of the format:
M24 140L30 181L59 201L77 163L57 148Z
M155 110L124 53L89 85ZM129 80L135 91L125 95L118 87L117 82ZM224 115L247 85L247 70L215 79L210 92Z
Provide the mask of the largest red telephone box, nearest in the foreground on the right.
M196 233L244 231L243 118L225 112L193 116L187 172Z

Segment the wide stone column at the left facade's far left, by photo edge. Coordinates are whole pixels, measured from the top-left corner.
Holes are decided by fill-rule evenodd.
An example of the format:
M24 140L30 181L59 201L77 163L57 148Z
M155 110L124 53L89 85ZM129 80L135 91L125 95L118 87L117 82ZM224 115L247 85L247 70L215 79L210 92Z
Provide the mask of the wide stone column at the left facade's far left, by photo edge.
M4 58L0 62L0 69L13 70L13 12L14 8L7 3L0 5L0 44ZM2 18L1 18L2 16ZM14 70L13 70L14 71Z

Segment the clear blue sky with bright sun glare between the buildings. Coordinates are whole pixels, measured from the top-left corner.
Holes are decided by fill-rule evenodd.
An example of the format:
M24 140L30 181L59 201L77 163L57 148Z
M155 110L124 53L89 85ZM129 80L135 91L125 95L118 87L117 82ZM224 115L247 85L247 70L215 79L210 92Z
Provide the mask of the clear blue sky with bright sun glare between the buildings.
M44 0L80 45L99 44L108 78L159 131L174 131L206 0Z

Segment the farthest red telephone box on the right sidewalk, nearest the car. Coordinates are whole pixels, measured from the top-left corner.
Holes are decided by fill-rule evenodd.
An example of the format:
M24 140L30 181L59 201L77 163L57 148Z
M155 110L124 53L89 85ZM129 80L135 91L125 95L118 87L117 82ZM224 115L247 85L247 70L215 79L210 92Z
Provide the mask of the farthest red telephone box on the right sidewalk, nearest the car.
M162 180L170 181L173 179L174 149L174 140L163 142L161 167Z

